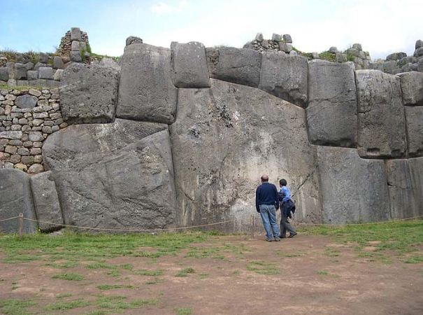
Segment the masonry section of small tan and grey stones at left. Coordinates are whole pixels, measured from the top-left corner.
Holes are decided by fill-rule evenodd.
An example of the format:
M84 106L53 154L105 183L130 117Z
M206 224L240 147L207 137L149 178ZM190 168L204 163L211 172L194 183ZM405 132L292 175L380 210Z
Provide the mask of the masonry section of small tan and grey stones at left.
M43 141L67 125L59 89L0 90L0 168L43 172Z

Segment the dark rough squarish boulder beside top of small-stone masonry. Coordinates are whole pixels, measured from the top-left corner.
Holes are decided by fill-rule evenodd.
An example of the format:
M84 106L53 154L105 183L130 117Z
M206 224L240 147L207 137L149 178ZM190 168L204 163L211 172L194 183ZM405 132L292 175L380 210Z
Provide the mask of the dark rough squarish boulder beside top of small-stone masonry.
M60 106L71 123L110 123L115 118L119 71L76 64L62 74Z

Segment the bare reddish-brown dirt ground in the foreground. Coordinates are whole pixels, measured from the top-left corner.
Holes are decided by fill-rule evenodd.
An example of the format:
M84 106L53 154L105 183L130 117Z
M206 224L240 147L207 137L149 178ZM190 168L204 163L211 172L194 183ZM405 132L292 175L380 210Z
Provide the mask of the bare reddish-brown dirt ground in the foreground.
M219 246L224 250L214 252ZM371 253L373 248L365 250ZM82 274L82 281L52 279L58 270L42 260L0 262L0 300L32 300L36 305L27 311L34 314L110 312L92 302L99 294L157 300L119 310L122 314L423 314L423 263L406 264L395 253L385 255L392 261L360 257L354 244L334 243L324 236L298 235L271 243L261 237L223 236L174 256L107 260L133 266L121 269L118 276L110 276L108 269L87 269L85 262L66 269ZM4 256L0 252L0 261ZM187 267L193 270L176 276ZM161 269L162 274L135 272L145 269ZM102 284L120 287L99 290ZM60 296L92 304L43 309Z

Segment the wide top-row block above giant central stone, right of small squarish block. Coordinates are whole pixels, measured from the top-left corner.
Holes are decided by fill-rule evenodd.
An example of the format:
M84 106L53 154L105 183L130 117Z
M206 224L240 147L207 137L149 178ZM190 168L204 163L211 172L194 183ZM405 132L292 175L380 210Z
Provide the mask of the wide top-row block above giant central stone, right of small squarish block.
M261 53L234 47L206 48L210 78L259 86Z

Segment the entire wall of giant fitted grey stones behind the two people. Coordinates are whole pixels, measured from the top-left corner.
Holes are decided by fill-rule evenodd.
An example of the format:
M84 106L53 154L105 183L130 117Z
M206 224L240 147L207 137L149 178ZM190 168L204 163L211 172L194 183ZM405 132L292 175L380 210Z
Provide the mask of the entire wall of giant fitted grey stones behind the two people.
M259 35L245 48L170 49L131 36L119 64L81 63L85 39L78 50L63 40L73 62L60 64L60 89L1 87L0 220L45 221L25 232L220 221L213 228L245 231L263 173L287 179L297 222L423 215L422 72L292 53L286 35L272 49ZM29 85L16 65L1 80Z

